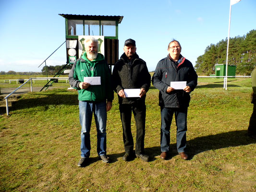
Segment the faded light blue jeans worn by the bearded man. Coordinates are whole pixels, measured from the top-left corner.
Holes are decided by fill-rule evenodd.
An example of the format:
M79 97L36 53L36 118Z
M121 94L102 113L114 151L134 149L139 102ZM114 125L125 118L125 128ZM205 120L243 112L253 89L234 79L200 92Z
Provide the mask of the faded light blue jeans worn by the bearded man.
M92 115L97 128L97 152L99 156L106 155L107 149L107 110L106 102L79 101L79 118L81 129L81 157L89 157L91 150L90 130Z

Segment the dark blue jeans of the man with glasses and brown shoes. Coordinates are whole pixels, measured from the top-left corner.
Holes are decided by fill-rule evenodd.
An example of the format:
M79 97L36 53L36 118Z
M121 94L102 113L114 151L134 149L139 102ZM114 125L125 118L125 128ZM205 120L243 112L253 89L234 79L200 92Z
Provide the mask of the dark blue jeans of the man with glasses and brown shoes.
M177 125L177 150L182 153L186 148L187 108L161 108L161 152L169 151L173 113Z

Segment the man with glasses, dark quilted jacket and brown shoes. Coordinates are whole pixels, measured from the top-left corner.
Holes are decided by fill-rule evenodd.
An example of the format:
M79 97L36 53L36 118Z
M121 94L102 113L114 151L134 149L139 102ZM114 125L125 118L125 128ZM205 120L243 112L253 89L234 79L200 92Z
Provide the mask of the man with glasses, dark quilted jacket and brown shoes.
M197 85L197 74L192 63L181 55L181 45L173 40L168 45L168 56L158 62L152 84L159 90L161 108L161 159L166 159L170 146L170 128L173 113L177 125L177 150L182 159L187 160L186 131L187 109L190 93ZM183 89L174 89L171 82L186 82Z

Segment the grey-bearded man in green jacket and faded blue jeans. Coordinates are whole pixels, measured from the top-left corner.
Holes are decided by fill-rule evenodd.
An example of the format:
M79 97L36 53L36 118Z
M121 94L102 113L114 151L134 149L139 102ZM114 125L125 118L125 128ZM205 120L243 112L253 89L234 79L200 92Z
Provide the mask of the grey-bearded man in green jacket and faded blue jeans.
M90 156L90 129L93 114L97 128L98 156L107 163L110 161L106 152L107 111L112 107L114 95L111 88L110 68L104 56L98 53L96 38L85 39L85 53L73 64L69 73L69 84L78 90L79 118L82 126L81 159L77 166L84 167Z

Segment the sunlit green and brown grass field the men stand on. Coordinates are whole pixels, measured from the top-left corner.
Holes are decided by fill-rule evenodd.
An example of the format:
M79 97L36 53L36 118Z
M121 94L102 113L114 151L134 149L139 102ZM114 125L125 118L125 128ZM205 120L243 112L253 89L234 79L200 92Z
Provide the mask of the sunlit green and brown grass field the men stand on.
M146 97L145 151L151 161L122 160L115 94L107 122L112 162L98 159L93 121L85 168L76 166L81 130L77 93L67 91L67 84L21 96L10 116L0 116L0 192L256 192L256 140L246 135L253 109L251 79L229 79L227 91L223 79L198 81L188 110L188 161L177 154L174 120L171 157L159 158L160 109L153 86ZM134 119L132 128L135 137Z

